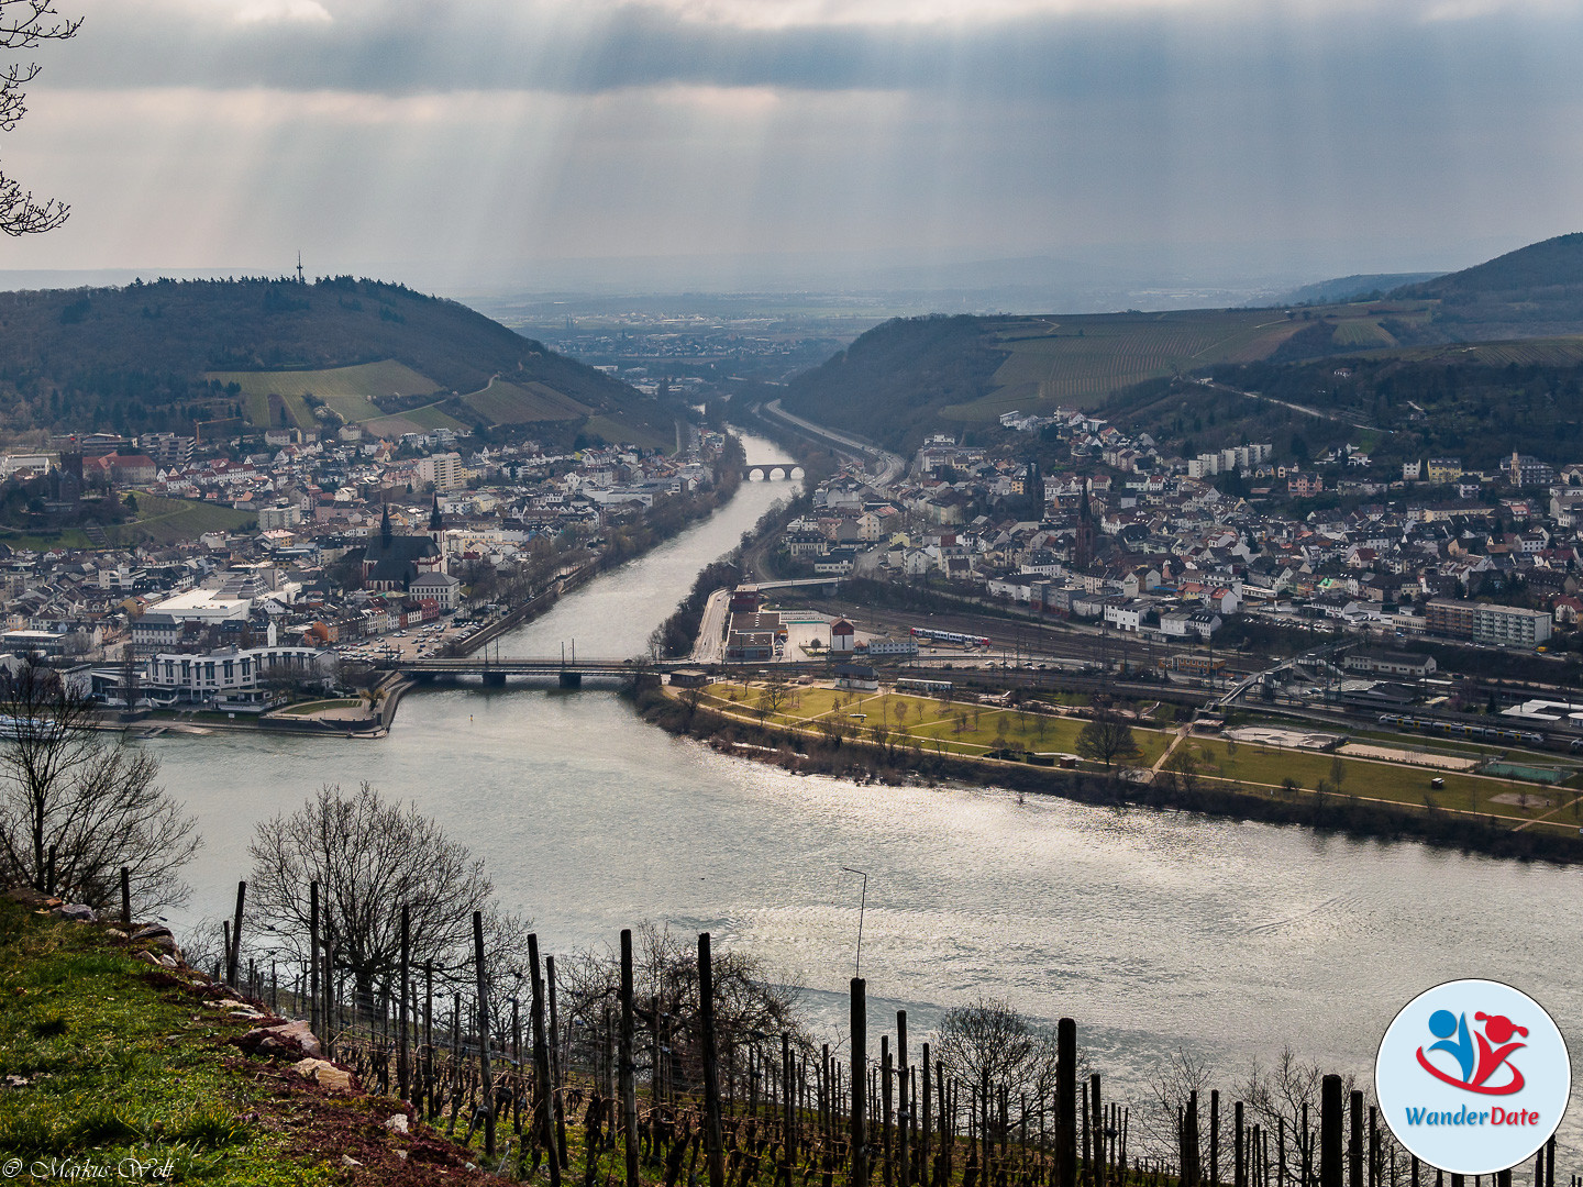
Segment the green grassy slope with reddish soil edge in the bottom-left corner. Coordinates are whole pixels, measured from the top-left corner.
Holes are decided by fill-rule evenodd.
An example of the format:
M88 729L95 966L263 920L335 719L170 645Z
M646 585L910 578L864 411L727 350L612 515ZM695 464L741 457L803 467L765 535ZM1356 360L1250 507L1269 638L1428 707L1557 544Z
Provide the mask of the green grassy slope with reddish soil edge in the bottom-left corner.
M288 1064L244 1056L234 1040L253 1024L220 999L203 975L141 962L95 924L0 899L0 1068L9 1078L0 1159L46 1170L60 1160L33 1178L239 1187L467 1178L476 1155L423 1128L385 1127L407 1111L399 1102L328 1094ZM117 1174L128 1159L142 1170Z

